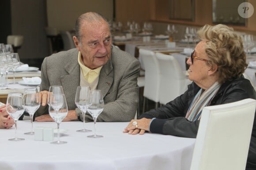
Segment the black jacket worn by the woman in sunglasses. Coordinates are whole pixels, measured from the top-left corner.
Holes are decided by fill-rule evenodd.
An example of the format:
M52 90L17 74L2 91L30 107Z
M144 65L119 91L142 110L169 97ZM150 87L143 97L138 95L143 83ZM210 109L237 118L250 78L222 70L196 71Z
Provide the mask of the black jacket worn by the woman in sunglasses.
M179 137L196 138L200 120L190 122L185 118L188 107L200 90L196 83L188 85L188 90L166 105L142 114L141 118L156 118L150 125L150 131ZM243 76L222 84L210 105L221 105L246 98L256 99L256 92L249 80ZM252 137L248 153L247 167L256 168L256 116L252 128Z

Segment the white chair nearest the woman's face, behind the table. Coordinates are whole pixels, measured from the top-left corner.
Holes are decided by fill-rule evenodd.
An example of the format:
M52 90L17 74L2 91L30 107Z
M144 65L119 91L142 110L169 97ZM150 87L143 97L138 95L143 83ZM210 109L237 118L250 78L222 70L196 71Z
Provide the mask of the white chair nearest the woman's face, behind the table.
M166 104L183 94L191 81L172 55L156 53L156 57L160 69L159 101Z

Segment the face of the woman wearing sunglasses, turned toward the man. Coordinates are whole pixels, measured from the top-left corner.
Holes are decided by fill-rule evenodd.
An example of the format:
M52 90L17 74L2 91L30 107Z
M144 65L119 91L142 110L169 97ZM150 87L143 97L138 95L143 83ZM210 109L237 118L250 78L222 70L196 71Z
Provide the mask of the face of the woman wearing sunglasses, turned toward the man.
M209 58L205 52L205 41L200 41L196 45L193 54L193 63L191 58L188 59L187 64L190 65L188 69L189 80L194 81L199 87L207 89L211 80L212 69L208 64ZM197 59L198 58L198 59Z

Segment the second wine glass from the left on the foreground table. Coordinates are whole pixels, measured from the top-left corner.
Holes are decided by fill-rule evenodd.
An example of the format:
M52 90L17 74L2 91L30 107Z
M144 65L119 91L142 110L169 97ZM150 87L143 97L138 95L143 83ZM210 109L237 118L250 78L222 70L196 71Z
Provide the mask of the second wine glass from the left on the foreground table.
M25 88L23 93L23 108L25 109L26 112L29 113L32 127L30 132L26 132L24 134L34 134L33 116L34 116L34 113L39 108L39 106L40 106L40 98L39 98L38 90L36 88Z

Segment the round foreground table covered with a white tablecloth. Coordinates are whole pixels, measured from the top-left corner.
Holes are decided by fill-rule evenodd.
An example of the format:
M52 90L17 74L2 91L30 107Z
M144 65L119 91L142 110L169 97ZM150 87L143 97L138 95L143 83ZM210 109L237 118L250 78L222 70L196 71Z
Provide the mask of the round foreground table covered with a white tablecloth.
M102 138L88 138L78 133L82 122L62 122L68 129L60 139L64 145L34 141L24 135L29 121L18 121L17 137L8 141L14 128L0 130L0 170L189 170L195 139L161 134L128 135L122 133L128 123L96 123ZM34 122L34 127L56 127L55 122ZM93 129L93 123L86 123ZM56 140L56 138L55 138Z

